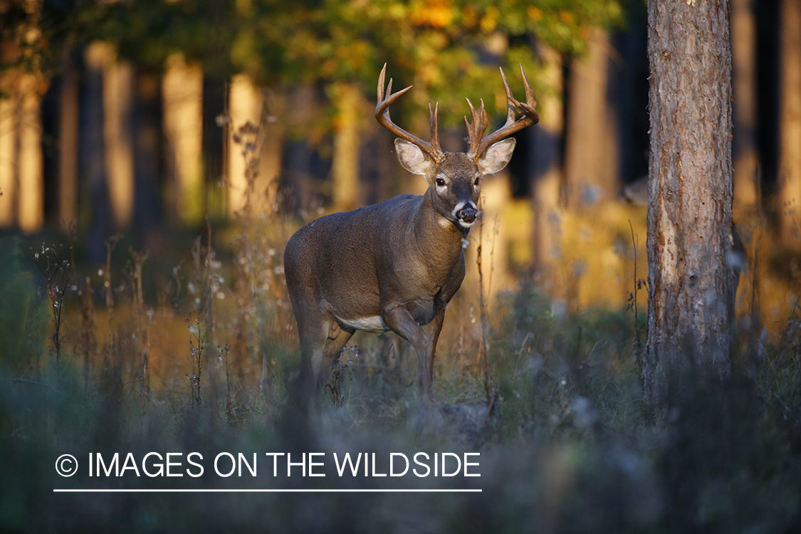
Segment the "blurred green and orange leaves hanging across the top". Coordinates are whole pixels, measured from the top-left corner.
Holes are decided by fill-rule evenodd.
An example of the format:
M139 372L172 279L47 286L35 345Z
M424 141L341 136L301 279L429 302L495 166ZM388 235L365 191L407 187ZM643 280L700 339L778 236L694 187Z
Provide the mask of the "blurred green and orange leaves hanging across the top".
M41 38L28 42L20 32L2 38L30 49L25 57L44 58L48 72L65 47L103 40L115 43L122 58L155 69L180 52L211 77L246 72L272 86L356 83L370 95L387 62L391 76L416 86L410 103L443 102L443 119L453 122L465 112L454 93L485 97L490 112L505 114L498 66L514 79L522 64L539 91L532 46L581 54L590 27L622 23L624 2L46 0L40 14L14 18L40 26Z

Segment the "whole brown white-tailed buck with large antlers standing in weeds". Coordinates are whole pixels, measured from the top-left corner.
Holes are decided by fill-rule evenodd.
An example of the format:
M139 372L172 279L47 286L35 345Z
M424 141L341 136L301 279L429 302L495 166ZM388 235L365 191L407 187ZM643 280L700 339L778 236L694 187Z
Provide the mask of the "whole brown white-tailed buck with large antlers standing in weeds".
M384 93L385 71L386 65L378 78L376 119L400 138L400 164L425 176L429 189L309 223L289 239L284 269L300 335L302 384L311 387L312 376L320 376L356 330L392 330L413 344L422 393L432 400L434 351L445 308L465 278L462 240L479 215L481 177L509 163L515 140L505 138L539 121L537 102L522 66L525 102L513 98L501 70L509 101L505 125L485 136L484 102L476 110L468 100L469 150L445 152L438 106L429 105L430 142L389 118L389 106L412 87L392 94L390 79Z

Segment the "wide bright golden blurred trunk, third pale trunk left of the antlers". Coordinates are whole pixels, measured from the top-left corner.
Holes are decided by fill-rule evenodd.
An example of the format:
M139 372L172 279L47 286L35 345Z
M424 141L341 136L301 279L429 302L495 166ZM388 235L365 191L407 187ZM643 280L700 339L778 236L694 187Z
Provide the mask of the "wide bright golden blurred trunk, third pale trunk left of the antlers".
M203 70L183 54L167 58L162 80L171 212L187 226L203 223Z

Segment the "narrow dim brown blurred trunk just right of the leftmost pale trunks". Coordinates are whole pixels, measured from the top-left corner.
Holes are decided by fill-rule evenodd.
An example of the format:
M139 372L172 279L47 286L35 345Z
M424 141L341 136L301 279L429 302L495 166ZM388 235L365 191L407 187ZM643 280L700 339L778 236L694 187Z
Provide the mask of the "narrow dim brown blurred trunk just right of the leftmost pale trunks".
M73 50L64 52L58 120L58 223L78 220L78 71Z

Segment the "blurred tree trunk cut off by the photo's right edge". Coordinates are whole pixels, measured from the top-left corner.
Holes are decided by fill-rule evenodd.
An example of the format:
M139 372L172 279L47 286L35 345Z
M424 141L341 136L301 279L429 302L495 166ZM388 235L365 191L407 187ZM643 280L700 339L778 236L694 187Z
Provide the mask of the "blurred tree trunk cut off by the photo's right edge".
M801 2L779 14L779 217L782 242L801 247Z

